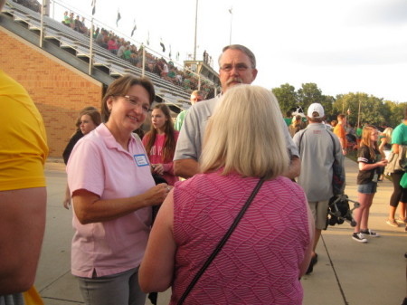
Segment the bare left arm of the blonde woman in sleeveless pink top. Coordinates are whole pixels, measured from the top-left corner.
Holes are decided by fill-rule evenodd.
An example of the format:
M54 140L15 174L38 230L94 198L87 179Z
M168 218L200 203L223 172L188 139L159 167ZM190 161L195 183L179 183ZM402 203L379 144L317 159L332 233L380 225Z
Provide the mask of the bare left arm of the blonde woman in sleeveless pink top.
M166 197L156 216L140 265L138 283L144 292L166 291L173 281L176 251L173 193Z

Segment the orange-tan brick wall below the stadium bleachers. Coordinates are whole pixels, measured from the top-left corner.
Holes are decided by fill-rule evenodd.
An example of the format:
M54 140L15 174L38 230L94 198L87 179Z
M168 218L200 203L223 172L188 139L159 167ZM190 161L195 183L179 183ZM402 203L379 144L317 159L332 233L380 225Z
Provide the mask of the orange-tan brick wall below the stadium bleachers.
M79 111L99 109L102 84L2 27L0 42L0 69L28 91L43 115L50 157L62 157Z

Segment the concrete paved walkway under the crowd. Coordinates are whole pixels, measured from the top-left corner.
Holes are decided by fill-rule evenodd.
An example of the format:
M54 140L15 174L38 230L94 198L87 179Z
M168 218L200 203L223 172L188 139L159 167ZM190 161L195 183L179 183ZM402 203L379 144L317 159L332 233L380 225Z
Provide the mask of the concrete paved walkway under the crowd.
M59 162L56 162L59 161ZM71 210L62 207L66 175L61 160L46 166L48 182L47 225L35 286L46 305L83 304L71 276ZM345 193L357 200L357 167L346 159ZM349 224L328 227L317 248L314 272L301 281L304 305L399 305L406 294L407 233L385 224L393 185L379 184L370 212L370 227L382 236L369 243L352 240ZM168 304L170 292L160 293L158 303ZM148 301L146 303L150 304Z

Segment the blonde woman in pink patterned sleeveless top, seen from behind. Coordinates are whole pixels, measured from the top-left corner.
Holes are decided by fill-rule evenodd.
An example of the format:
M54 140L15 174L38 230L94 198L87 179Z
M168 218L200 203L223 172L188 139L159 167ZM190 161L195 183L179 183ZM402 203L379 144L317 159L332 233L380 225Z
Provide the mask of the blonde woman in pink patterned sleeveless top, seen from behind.
M177 183L158 212L140 267L143 291L172 286L176 304L262 178L185 304L302 304L298 277L310 260L313 222L300 186L281 176L289 167L283 128L270 91L249 85L226 91L206 129L203 174Z

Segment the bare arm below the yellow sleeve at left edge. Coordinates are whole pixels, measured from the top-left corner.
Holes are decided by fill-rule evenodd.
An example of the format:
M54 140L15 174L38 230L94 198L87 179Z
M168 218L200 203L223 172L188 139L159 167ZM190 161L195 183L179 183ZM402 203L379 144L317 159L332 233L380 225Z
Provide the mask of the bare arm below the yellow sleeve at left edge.
M43 244L45 187L0 192L0 295L27 291Z

